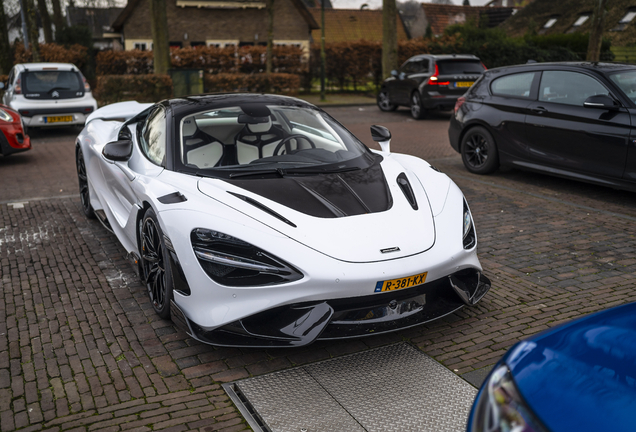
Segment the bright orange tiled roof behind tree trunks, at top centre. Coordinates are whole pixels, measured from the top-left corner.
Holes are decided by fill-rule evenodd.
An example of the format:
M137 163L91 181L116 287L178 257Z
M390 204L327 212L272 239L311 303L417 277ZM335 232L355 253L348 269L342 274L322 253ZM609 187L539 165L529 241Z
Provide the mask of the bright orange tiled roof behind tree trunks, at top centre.
M320 22L320 9L311 8L312 16ZM402 20L397 17L398 40L408 39ZM321 38L320 29L312 30L314 42ZM325 42L382 41L382 11L370 9L325 9Z

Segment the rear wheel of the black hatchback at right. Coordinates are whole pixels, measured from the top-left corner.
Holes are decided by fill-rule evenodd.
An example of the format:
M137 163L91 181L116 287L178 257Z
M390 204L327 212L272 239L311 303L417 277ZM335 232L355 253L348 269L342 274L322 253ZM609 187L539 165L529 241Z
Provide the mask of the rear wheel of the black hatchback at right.
M499 168L497 144L490 132L476 126L464 135L461 142L462 162L474 174L490 174Z

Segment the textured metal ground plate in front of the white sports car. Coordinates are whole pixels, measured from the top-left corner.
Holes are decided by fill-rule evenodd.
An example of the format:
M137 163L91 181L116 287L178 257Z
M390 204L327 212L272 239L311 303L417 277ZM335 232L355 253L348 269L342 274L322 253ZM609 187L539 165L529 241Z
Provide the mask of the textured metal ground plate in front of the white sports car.
M399 343L224 385L271 432L460 432L477 390Z

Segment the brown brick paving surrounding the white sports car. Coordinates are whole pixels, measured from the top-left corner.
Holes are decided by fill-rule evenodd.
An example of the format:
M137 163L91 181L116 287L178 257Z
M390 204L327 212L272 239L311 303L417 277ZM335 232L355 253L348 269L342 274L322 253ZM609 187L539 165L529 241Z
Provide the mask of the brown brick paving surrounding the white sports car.
M364 109L330 111L362 138L369 124L390 127L394 151L434 159L466 194L493 281L478 307L301 349L199 344L154 315L115 237L83 217L76 131L38 134L31 152L0 159L0 430L241 431L220 383L403 339L461 374L526 335L636 300L633 193L520 171L474 176L449 151L447 116Z

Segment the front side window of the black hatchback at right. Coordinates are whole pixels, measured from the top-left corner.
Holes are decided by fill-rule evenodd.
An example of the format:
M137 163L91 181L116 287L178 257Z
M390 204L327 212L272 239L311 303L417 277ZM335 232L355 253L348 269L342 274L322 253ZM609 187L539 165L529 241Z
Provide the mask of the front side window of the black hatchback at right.
M570 71L545 71L541 77L540 101L583 106L585 99L594 95L609 95L609 91L588 75Z

